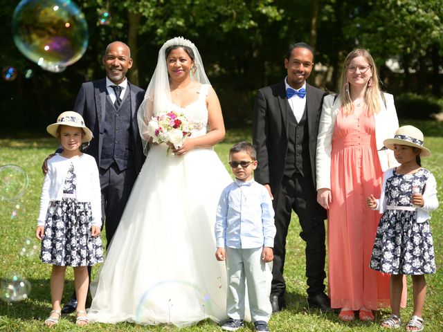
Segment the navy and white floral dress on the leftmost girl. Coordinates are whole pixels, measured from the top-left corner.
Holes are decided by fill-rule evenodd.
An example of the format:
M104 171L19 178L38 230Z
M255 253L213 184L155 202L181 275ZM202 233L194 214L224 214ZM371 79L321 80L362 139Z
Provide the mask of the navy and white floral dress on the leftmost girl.
M102 240L92 237L91 203L75 199L75 173L71 163L61 201L51 201L46 213L42 252L44 263L57 266L92 266L103 261Z

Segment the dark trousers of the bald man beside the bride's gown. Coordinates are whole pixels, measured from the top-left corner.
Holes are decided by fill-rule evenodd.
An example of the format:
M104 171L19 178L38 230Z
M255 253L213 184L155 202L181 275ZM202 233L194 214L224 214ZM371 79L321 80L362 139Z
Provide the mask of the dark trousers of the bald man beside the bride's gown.
M102 191L102 225L105 225L106 248L108 250L125 210L132 187L136 182L137 174L135 167L120 171L116 163L113 163L108 169L100 168L99 173L100 189ZM88 266L88 275L89 283L91 283L91 266ZM75 290L71 298L77 298Z

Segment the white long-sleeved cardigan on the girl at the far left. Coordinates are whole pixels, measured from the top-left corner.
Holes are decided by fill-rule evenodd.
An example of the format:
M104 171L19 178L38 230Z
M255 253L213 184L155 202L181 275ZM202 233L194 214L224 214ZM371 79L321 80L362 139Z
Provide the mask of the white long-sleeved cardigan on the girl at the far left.
M48 160L48 173L44 177L37 225L44 225L49 202L62 200L64 180L71 163L73 163L76 178L76 199L79 202L91 202L92 224L101 227L100 178L96 159L89 154L82 154L78 158L64 158L60 154L56 154Z

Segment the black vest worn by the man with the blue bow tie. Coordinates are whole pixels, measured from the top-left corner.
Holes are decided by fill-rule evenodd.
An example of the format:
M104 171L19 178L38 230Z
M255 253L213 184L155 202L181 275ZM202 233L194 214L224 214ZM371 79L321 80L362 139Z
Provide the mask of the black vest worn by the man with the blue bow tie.
M291 110L291 107L289 107L289 110ZM303 177L311 174L309 131L307 127L306 113L307 109L305 107L300 122L297 122L292 111L288 114L288 149L286 163L284 165L284 176L287 176L288 178L291 178L294 174L299 174Z

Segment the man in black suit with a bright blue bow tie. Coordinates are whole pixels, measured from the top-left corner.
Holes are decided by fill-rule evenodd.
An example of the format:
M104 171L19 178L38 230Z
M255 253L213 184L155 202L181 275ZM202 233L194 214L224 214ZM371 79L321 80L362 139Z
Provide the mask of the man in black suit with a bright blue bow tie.
M292 210L298 215L306 242L308 304L331 311L325 295L326 212L316 201L316 143L324 91L307 84L314 65L314 51L305 43L289 46L284 67L287 77L260 89L253 111L253 143L258 167L255 181L262 183L273 198L275 210L273 312L284 308L283 270L286 237Z

